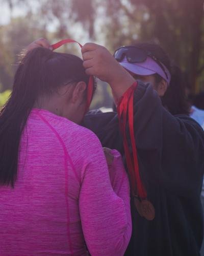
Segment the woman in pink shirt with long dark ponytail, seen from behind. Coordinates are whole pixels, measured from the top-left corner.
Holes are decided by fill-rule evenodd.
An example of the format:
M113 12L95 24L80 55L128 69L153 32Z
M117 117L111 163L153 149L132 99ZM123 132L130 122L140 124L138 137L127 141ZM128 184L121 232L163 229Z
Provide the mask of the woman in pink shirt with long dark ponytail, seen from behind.
M123 255L130 188L78 125L89 77L77 56L30 51L0 113L0 255ZM88 249L87 249L88 248Z

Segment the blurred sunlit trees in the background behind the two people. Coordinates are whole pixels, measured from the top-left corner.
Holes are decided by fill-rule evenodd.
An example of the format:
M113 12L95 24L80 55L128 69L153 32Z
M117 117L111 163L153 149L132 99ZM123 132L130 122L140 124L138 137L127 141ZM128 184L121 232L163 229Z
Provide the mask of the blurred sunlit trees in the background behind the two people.
M186 92L204 90L204 0L0 0L0 106L9 97L20 51L38 37L50 43L93 41L111 53L136 40L159 43L186 75ZM80 55L77 45L60 51ZM98 82L92 108L112 106Z

